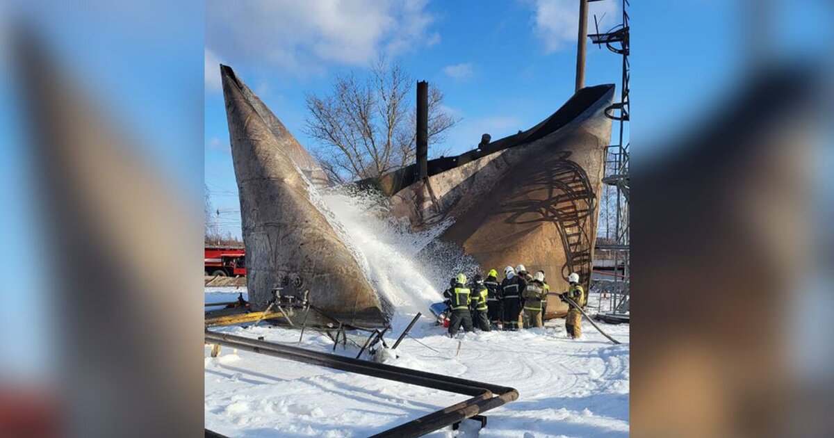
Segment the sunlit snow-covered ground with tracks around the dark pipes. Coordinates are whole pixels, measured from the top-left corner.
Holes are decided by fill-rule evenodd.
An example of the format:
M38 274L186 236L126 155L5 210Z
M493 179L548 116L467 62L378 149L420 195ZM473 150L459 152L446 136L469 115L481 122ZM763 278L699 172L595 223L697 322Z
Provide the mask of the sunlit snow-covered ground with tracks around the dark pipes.
M207 298L237 296L209 290ZM387 336L389 345L408 320L402 316ZM425 317L411 331L416 340L406 338L399 357L388 363L519 390L518 400L486 413L485 429L465 421L458 432L446 428L429 436L625 436L629 325L600 326L623 344L612 345L587 322L583 339L568 340L564 320L550 320L544 330L475 332L453 340ZM299 345L298 330L216 330ZM300 345L333 350L333 342L315 331L306 332ZM350 344L335 351L351 357L358 352ZM211 358L207 347L205 355L205 424L229 436L367 436L466 398L246 351L224 349Z

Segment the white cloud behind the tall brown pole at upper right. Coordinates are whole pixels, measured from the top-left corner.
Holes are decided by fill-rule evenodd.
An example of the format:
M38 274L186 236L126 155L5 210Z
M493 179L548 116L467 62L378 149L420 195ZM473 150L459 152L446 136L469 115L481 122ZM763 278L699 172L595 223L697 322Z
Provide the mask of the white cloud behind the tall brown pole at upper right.
M579 33L579 2L576 0L530 0L534 33L545 43L545 52L572 48ZM619 23L619 8L614 0L588 3L588 33L595 33L594 15L600 20L600 33ZM604 15L603 15L604 14Z

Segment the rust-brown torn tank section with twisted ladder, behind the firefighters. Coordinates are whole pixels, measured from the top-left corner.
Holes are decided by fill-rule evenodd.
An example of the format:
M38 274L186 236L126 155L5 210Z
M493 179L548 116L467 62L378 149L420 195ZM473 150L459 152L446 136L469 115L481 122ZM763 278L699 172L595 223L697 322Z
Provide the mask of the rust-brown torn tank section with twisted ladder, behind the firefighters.
M453 219L439 239L459 245L482 272L525 264L530 274L544 270L553 292L567 290L576 272L587 291L613 95L613 85L582 88L533 128L430 160L424 179L412 164L378 185L414 229ZM550 297L547 310L552 317L567 305Z

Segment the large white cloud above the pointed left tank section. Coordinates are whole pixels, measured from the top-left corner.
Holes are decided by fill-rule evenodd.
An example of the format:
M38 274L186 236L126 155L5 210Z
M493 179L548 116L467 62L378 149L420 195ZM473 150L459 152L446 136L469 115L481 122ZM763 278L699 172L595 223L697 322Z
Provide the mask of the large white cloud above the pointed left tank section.
M308 73L322 64L362 65L440 41L426 0L271 0L206 3L206 44L232 63Z

